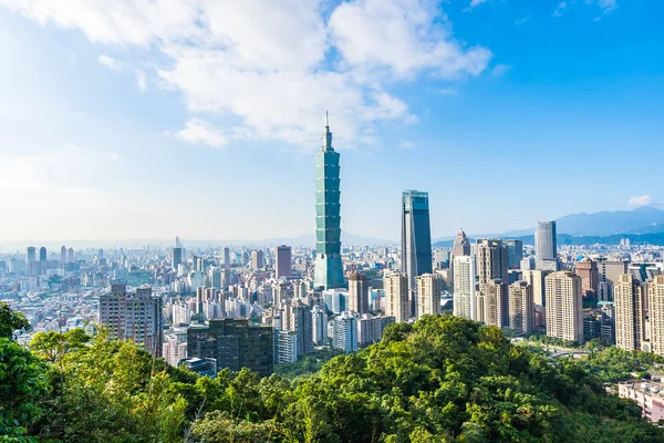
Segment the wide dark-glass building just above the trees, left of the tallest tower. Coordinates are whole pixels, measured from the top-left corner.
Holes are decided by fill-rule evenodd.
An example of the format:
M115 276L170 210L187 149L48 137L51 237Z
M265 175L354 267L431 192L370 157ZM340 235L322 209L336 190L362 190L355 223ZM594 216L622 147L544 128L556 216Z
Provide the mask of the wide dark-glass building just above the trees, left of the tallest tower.
M217 360L217 369L242 368L269 377L274 371L272 327L251 326L246 319L216 319L187 329L187 354Z

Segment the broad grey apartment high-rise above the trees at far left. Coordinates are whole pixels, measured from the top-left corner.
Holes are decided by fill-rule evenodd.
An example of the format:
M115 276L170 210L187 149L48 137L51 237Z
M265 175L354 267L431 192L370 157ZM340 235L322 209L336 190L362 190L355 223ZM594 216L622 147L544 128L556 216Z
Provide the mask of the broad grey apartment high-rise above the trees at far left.
M111 286L111 293L100 296L100 323L108 329L112 338L132 340L162 357L162 297L153 296L152 288L127 292L126 285Z

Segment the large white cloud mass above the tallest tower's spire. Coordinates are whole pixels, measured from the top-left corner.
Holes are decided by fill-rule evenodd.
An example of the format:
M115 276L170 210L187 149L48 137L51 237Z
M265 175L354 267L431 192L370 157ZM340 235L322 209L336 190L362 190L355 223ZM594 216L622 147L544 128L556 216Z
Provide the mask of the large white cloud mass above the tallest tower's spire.
M113 8L105 0L0 4L42 24L80 30L94 42L159 52L151 58L160 61L159 84L181 92L189 111L239 121L231 128L215 128L193 119L177 133L212 146L242 138L237 136L240 132L314 148L325 110L333 128L343 128L335 134L338 147L371 141L376 126L416 120L390 91L396 82L416 75L447 81L476 76L492 55L484 47L455 40L447 18L429 0L352 0L336 6L324 0L115 0ZM103 58L100 63L120 66ZM145 80L137 70L142 90Z

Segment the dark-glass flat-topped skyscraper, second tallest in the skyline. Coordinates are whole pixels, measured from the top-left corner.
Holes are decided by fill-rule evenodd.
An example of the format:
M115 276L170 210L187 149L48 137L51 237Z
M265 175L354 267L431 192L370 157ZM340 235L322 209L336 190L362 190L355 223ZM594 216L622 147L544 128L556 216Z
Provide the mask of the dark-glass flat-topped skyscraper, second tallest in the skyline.
M432 274L433 266L428 193L404 190L402 195L401 270L408 278L409 317L417 317L415 277Z

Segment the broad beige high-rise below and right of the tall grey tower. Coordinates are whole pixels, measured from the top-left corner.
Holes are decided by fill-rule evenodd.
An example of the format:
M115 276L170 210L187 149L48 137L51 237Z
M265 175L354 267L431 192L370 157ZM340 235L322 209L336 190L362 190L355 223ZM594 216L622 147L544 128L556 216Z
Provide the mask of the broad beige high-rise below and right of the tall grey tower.
M544 278L547 290L547 336L583 341L581 277L563 270Z

